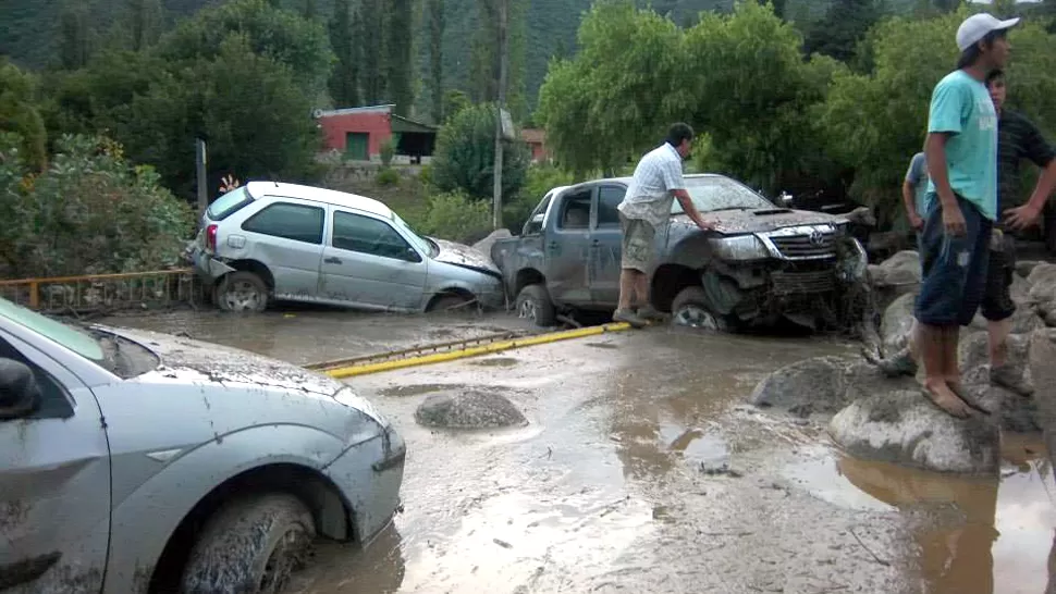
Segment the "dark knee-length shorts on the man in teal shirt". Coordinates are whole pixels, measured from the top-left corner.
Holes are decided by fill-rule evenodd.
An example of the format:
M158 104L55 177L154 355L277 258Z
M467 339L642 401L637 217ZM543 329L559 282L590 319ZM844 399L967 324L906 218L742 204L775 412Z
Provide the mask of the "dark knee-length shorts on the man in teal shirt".
M938 199L929 202L920 245L923 277L913 315L926 325L967 326L975 317L986 287L993 221L958 196L967 233L947 236Z

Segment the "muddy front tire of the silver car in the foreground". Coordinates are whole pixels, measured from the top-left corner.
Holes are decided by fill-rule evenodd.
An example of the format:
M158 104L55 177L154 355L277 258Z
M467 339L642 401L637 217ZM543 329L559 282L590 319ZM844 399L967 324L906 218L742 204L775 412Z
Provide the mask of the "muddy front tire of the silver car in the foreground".
M293 495L233 502L206 523L184 568L181 592L281 592L304 567L315 537L311 512Z

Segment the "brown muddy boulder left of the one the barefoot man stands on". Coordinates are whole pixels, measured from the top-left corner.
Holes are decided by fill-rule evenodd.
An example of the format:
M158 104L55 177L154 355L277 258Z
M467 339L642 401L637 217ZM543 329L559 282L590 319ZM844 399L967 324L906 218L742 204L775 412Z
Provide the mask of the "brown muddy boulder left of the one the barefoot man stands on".
M847 403L845 374L848 361L815 357L783 367L756 385L748 401L763 408L788 410L799 417L835 412Z

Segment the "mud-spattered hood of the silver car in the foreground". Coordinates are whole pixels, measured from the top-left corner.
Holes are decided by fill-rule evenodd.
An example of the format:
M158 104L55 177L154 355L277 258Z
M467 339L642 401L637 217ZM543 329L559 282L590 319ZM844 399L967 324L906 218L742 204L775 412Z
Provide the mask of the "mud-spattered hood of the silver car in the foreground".
M102 325L95 327L151 350L161 359L159 371L192 370L213 382L253 384L329 397L345 387L321 373L246 350L157 332Z

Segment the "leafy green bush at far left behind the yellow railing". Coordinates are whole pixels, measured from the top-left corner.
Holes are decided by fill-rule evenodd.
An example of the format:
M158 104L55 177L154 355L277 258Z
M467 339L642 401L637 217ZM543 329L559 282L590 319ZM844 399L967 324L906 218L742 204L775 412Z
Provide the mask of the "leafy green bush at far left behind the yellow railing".
M0 134L0 262L22 276L156 270L175 263L194 218L120 145L65 136L30 175L16 135Z

